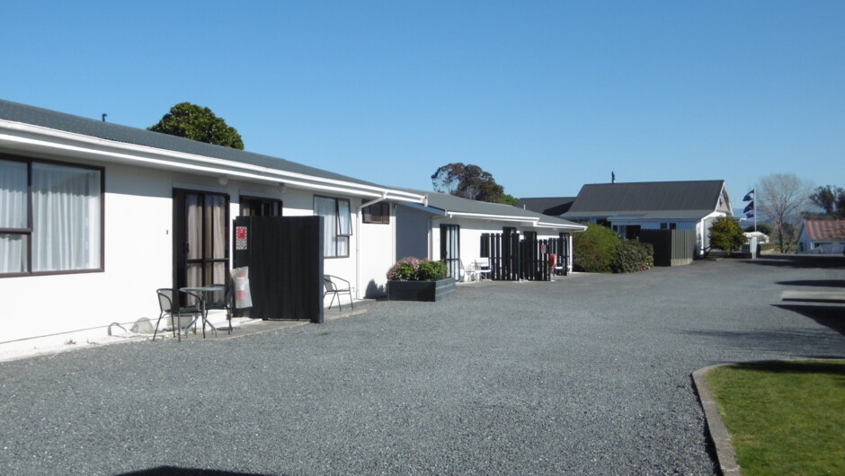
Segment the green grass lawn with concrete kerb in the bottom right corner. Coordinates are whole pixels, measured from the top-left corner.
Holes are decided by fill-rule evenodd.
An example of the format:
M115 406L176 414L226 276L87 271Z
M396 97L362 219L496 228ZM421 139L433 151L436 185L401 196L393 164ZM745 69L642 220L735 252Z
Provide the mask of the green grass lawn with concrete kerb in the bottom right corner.
M845 475L845 360L722 366L707 385L743 475Z

